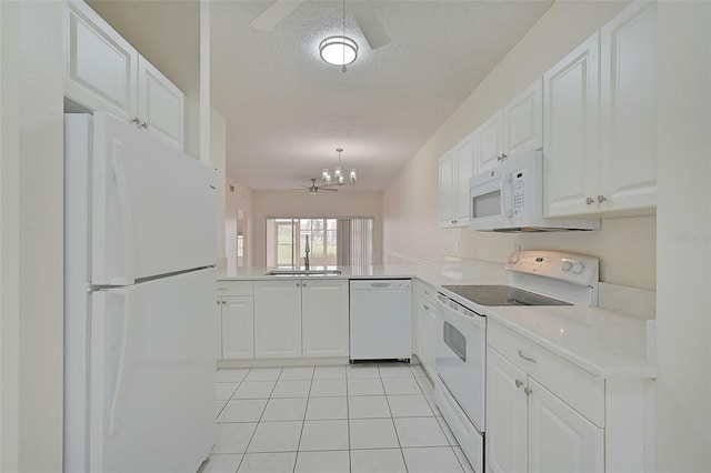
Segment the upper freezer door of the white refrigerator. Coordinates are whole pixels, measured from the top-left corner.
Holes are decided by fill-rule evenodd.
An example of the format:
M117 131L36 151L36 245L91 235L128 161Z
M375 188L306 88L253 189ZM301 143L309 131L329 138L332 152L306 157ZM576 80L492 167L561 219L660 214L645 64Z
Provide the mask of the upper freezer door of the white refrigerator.
M216 264L212 168L104 112L91 154L92 284Z

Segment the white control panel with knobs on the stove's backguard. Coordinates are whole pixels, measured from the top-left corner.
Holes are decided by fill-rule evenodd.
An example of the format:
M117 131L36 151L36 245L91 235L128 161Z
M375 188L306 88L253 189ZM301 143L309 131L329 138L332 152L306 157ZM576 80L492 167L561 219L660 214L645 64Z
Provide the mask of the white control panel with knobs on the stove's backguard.
M587 254L549 250L524 250L511 253L507 270L537 274L580 285L598 280L599 260Z

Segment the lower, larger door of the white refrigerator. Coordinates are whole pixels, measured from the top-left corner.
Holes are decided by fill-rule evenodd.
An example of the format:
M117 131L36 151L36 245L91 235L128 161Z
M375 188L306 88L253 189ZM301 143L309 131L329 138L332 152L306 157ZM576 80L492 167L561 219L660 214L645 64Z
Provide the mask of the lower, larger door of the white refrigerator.
M194 473L214 442L216 270L92 295L87 471Z

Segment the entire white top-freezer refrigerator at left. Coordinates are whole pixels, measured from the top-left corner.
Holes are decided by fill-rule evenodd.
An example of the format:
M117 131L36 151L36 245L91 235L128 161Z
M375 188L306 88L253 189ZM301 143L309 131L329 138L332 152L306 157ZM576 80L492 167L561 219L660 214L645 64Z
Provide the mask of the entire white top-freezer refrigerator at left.
M214 441L216 172L64 118L64 471L194 473Z

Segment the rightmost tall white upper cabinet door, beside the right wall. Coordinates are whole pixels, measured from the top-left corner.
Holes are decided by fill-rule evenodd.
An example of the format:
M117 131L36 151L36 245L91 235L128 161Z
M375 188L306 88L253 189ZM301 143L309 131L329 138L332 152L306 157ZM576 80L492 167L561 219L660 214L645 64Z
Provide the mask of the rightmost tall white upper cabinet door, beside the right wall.
M602 211L657 204L657 3L633 2L601 32Z

